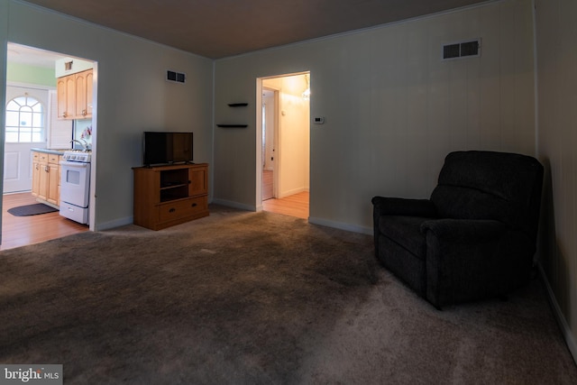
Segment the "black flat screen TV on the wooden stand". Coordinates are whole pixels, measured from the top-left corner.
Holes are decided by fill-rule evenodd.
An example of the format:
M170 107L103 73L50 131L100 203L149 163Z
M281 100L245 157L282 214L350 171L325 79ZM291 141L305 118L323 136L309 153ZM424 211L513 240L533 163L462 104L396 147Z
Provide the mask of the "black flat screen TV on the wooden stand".
M144 132L142 153L144 166L192 163L192 133Z

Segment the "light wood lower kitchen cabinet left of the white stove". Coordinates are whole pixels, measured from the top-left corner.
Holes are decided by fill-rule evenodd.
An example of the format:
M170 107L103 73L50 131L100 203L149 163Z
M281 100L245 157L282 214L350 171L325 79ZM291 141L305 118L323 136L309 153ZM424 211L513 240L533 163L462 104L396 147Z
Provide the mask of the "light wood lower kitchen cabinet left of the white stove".
M32 152L32 196L50 206L60 206L60 160L62 156Z

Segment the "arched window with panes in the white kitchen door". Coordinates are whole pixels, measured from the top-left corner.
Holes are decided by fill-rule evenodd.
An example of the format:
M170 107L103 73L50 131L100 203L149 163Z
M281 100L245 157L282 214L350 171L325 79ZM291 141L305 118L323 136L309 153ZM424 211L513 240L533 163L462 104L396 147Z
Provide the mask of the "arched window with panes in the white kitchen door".
M44 106L28 94L6 104L6 142L44 142Z

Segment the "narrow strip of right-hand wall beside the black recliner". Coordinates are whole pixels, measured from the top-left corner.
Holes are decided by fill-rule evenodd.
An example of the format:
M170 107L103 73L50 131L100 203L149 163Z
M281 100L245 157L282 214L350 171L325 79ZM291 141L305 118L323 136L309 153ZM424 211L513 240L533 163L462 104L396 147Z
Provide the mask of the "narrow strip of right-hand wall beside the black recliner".
M536 0L538 153L545 165L540 262L577 360L577 2Z

